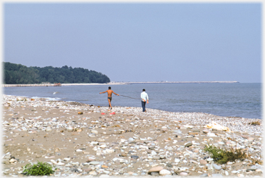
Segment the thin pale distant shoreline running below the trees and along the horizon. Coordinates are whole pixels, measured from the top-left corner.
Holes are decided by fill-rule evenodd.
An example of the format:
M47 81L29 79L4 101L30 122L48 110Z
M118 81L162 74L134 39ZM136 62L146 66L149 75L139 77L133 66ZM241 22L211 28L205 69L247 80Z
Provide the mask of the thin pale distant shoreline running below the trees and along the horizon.
M61 83L61 86L96 86L96 85L128 85L128 84L151 84L151 83L239 83L238 81L111 81L110 83ZM54 86L53 83L46 84L2 84L2 87L32 87L32 86Z

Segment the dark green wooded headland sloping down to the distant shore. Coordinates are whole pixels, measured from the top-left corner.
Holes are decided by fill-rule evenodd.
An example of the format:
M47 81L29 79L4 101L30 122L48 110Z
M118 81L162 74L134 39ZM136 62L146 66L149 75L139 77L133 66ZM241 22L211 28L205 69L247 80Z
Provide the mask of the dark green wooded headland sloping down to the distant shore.
M108 83L110 79L94 70L63 66L54 68L27 67L17 63L3 62L5 84L34 83Z

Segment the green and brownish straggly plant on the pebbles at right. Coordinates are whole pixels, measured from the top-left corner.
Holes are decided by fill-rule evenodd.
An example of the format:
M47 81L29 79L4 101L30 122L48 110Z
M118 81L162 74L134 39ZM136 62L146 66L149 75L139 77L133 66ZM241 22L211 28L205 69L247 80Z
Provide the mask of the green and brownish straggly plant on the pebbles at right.
M206 152L210 152L213 161L219 164L226 164L228 161L235 161L235 159L245 159L246 157L248 157L246 155L246 151L242 149L230 148L229 150L227 150L227 149L217 148L216 146L212 145L211 146L206 145L204 147L204 150Z

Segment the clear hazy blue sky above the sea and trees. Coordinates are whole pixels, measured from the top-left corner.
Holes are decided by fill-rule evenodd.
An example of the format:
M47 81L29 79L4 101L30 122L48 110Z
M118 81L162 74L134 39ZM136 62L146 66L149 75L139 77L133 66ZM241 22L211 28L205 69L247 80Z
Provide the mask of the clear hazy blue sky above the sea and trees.
M3 60L110 81L262 80L262 3L4 3Z

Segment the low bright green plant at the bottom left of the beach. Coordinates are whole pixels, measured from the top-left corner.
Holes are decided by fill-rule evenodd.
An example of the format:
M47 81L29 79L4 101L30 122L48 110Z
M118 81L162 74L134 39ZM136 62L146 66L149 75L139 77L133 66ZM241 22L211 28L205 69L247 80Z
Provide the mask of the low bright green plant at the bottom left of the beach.
M23 173L26 175L51 175L55 172L52 166L48 163L39 162L37 164L27 164L24 167Z

